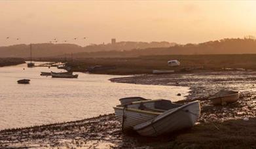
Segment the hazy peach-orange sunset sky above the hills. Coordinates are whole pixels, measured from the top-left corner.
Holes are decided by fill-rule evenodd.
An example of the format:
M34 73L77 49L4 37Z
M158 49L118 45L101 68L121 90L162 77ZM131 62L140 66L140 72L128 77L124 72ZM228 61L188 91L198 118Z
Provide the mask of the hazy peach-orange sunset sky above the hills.
M0 46L111 38L183 44L256 35L256 1L0 1L0 19Z

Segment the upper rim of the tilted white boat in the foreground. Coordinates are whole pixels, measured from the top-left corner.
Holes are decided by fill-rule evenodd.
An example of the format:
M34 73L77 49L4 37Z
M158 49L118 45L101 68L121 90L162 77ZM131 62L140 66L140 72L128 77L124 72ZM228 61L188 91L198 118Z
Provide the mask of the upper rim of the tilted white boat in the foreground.
M186 105L182 105L181 107L177 107L177 108L173 108L173 109L170 109L170 111L168 112L168 114L164 115L162 118L159 118L158 120L155 120L156 118L153 118L153 120L151 120L151 123L147 124L147 125L144 125L143 127L139 127L138 129L135 129L136 126L134 126L134 130L135 131L139 131L141 129L144 129L145 127L149 127L149 125L153 125L155 124L156 122L159 122L160 120L170 116L171 114L174 114L175 112L178 112L179 110L183 109L183 108L186 108L186 107L189 107L190 105L194 104L194 103L199 103L200 104L200 101L192 101L191 103L187 103ZM199 106L199 110L200 110L200 106ZM148 122L148 121L147 121ZM144 122L146 123L146 122ZM140 124L138 124L140 125Z

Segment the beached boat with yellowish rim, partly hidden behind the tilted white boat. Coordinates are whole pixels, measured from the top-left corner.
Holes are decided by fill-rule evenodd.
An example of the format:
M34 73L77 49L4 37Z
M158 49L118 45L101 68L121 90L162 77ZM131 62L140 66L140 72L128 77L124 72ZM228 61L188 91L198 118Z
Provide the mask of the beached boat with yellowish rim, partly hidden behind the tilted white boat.
M181 105L174 104L168 100L157 99L118 105L114 109L117 120L122 124L122 130L133 131L134 126L152 120L162 112L179 106Z

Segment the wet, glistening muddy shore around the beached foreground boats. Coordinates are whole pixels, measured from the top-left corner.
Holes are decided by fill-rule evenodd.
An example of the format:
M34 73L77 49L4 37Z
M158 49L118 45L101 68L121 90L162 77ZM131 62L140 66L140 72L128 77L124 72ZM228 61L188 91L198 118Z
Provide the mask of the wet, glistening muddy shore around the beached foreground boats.
M148 138L126 135L114 114L74 122L39 125L0 131L2 147L86 147L86 148L246 148L254 146L256 135L256 72L204 72L192 74L143 74L111 78L111 82L189 86L188 99L207 97L221 86L237 88L240 99L227 106L201 101L201 116L191 129L172 135ZM219 88L217 88L219 87ZM244 120L249 118L249 120ZM236 131L234 131L236 130ZM239 144L238 140L243 143ZM219 142L216 144L215 142Z

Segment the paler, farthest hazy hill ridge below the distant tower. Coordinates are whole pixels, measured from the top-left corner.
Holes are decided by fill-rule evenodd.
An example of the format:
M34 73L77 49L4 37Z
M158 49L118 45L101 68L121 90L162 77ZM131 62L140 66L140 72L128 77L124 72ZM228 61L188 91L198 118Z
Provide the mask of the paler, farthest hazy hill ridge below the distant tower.
M115 44L92 44L90 46L78 46L77 44L52 44L41 43L32 44L32 56L34 58L65 56L65 54L75 54L79 52L99 52L99 51L122 51L141 48L159 48L174 46L170 42L116 42ZM30 56L30 45L16 44L12 46L1 46L1 58L27 58Z

